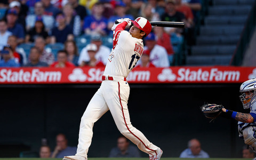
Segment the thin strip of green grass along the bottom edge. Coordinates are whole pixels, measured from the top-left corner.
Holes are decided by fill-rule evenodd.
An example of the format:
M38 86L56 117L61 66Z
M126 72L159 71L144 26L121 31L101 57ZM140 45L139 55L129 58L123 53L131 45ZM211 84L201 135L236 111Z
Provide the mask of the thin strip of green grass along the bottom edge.
M61 160L61 158L0 158L0 160ZM148 158L89 158L89 160L148 160ZM193 160L193 159L209 159L209 160L241 160L242 158L161 158L161 160ZM243 160L252 160L243 158Z

